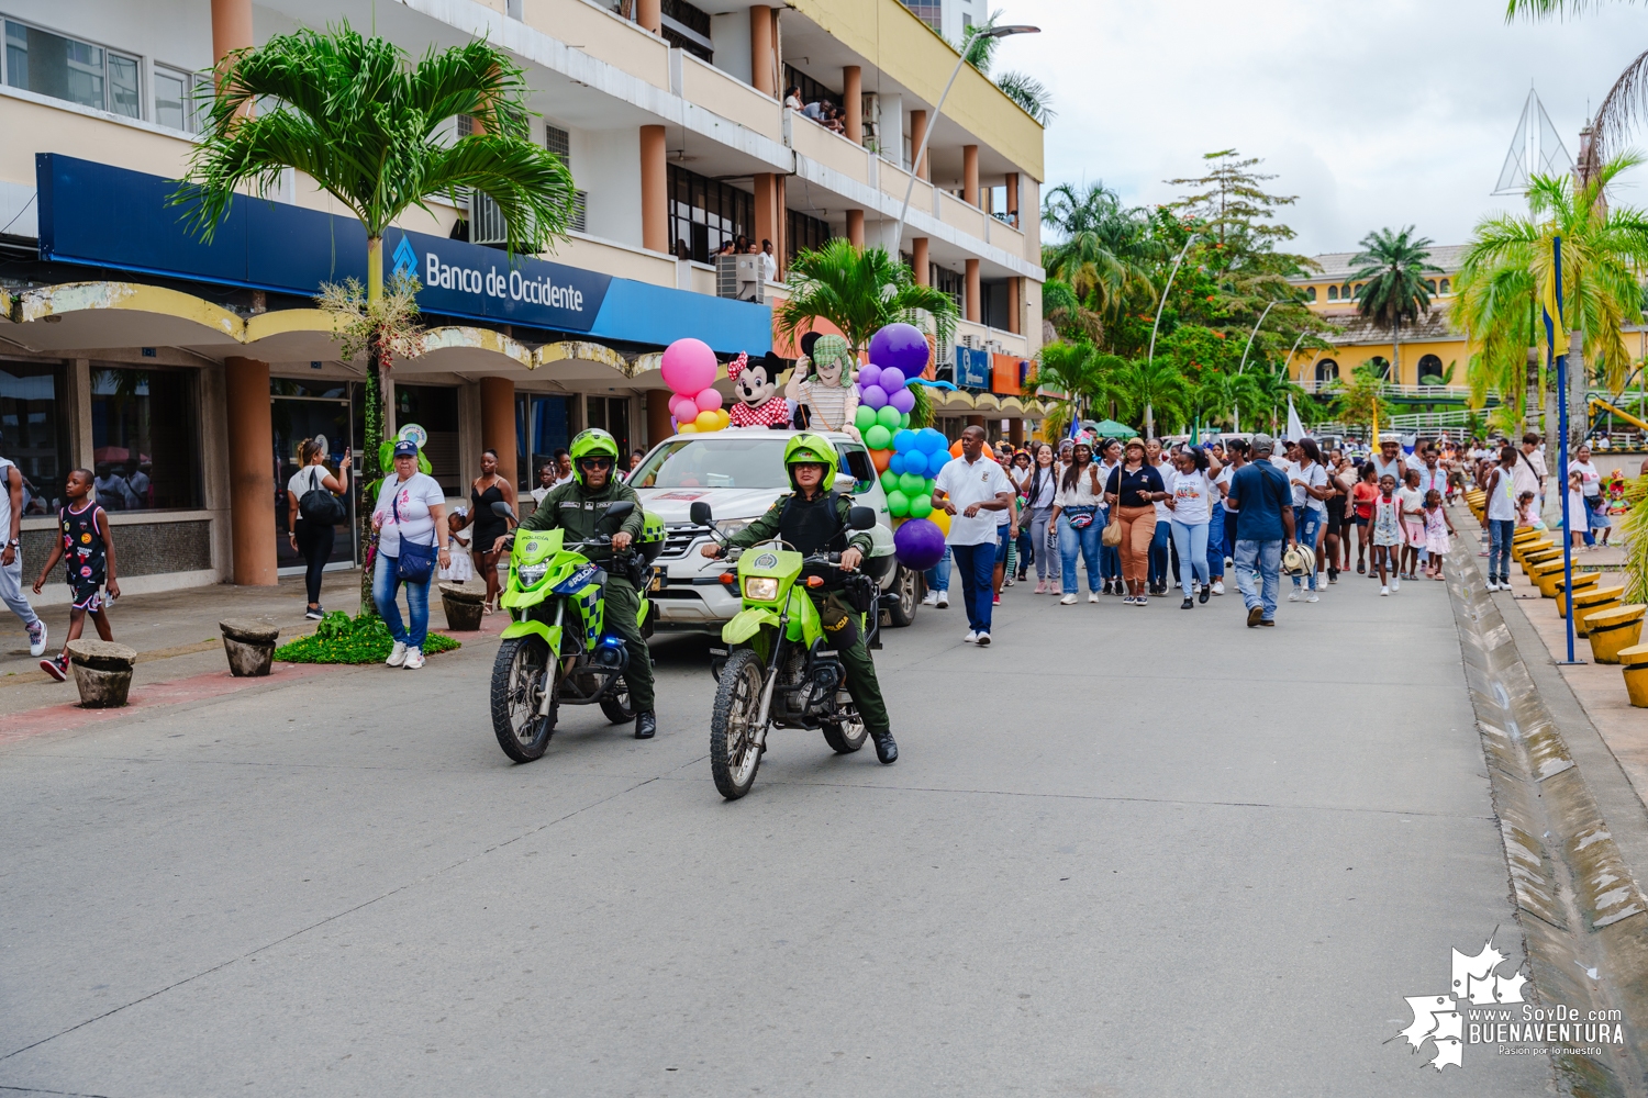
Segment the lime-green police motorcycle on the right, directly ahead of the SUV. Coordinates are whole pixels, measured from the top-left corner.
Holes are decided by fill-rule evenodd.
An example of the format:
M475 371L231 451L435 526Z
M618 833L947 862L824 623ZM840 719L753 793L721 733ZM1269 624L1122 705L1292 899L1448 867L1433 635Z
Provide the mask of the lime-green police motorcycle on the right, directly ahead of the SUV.
M714 530L710 505L692 504L692 522ZM873 525L875 512L868 507L854 507L847 515L852 530ZM720 579L737 586L743 609L722 627L727 649L712 650L710 670L719 688L710 716L710 772L720 795L737 800L755 785L773 728L819 729L837 754L864 747L868 731L808 594L822 588L824 578L803 576L809 566L840 568L840 553L803 555L775 538L733 548L727 560L737 561L737 571ZM880 603L875 581L850 571L845 593L867 642L878 647L880 616L870 612Z

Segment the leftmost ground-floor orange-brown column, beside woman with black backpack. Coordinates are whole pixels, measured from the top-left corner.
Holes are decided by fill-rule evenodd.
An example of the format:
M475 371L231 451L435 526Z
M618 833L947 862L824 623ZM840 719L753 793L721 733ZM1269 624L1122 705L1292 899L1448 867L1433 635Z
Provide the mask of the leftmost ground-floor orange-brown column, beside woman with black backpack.
M275 583L275 430L269 364L226 359L229 395L229 537L242 586Z

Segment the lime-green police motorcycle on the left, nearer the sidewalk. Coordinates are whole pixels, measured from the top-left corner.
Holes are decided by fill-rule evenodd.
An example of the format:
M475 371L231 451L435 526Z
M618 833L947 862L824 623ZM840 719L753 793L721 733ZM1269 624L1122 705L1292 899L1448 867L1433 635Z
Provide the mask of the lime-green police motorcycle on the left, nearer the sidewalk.
M606 505L600 527L616 530L634 510L630 500ZM493 512L514 519L509 504ZM641 593L636 624L649 634L646 586L651 561L664 547L664 525L646 515L646 533L611 558L610 566ZM656 528L654 528L656 527ZM623 639L605 630L606 568L580 550L610 547L611 533L567 542L565 530L526 530L509 537L509 579L498 604L514 621L503 630L493 662L491 711L498 746L516 762L531 762L549 747L562 705L600 705L613 724L634 719Z

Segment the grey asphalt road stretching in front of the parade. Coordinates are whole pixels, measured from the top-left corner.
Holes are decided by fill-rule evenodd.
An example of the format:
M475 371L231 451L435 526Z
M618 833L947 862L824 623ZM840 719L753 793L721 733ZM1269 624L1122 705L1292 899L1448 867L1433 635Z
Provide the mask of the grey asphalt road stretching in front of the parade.
M1547 1093L1389 1040L1521 958L1444 584L1055 603L923 609L900 762L780 731L737 803L694 640L529 765L493 644L0 749L0 1093Z

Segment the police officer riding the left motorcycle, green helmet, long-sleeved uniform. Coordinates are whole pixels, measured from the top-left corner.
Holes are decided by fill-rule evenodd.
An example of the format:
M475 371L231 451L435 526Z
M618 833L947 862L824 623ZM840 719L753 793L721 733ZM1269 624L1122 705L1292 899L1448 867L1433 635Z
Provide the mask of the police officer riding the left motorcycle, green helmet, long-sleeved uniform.
M636 617L641 609L638 579L628 575L626 563L633 560L631 545L641 537L644 514L641 499L615 472L618 466L618 440L600 428L580 431L572 440L572 479L550 489L544 502L527 515L519 530L565 530L569 540L593 538L606 505L628 500L634 510L611 538L611 550L590 548L587 556L606 565L606 626L625 642L630 663L625 680L630 685L630 703L634 706L634 737L651 739L658 733L658 713L653 708L653 655ZM494 548L503 548L509 535L498 538Z

